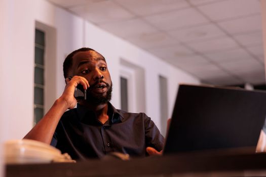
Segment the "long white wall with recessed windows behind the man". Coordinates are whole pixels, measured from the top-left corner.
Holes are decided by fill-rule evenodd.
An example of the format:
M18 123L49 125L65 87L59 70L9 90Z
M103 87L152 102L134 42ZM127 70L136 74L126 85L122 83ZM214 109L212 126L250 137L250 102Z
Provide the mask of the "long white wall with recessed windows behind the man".
M44 0L2 0L1 6L1 140L21 139L32 127L33 71L35 22L55 29L56 57L53 66L55 83L51 100L64 89L62 64L65 56L75 49L90 47L105 56L113 81L112 104L120 107L121 58L145 69L146 113L160 127L159 74L168 78L169 115L174 104L178 82L199 81L164 63L153 55L83 21ZM4 7L4 8L3 8ZM48 67L48 66L47 66ZM48 81L49 78L46 78ZM8 87L8 89L6 89ZM53 98L54 97L54 98Z

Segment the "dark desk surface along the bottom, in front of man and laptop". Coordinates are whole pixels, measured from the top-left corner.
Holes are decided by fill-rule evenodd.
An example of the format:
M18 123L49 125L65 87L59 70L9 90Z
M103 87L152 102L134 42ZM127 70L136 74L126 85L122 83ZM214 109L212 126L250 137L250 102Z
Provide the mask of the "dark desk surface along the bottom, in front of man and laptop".
M213 151L171 156L88 160L77 163L14 164L6 176L265 176L266 153Z

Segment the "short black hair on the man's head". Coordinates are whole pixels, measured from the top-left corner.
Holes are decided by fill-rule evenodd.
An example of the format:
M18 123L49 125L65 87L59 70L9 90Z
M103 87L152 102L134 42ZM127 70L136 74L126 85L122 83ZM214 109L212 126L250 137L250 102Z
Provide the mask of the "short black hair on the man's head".
M73 59L73 56L78 53L78 52L85 52L85 51L95 51L91 48L81 48L81 49L78 49L78 50L75 50L73 52L71 52L66 58L65 58L65 61L63 63L63 71L64 71L64 77L69 77L68 76L68 71L69 69L71 68L72 66L72 59ZM95 51L97 52L97 51ZM98 52L97 52L98 53ZM101 55L101 54L100 54ZM102 56L102 55L101 55ZM103 57L103 56L102 56ZM103 57L103 59L105 60L105 58Z

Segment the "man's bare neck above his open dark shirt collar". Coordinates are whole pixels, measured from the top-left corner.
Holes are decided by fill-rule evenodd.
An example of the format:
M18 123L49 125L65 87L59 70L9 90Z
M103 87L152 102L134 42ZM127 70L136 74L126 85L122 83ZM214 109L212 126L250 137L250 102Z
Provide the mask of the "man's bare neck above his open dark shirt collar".
M108 111L108 104L102 104L102 105L93 105L91 103L88 103L86 101L82 101L79 103L82 106L87 107L89 110L95 112L96 114L96 118L102 122L102 124L104 124L109 116L107 115L107 111Z

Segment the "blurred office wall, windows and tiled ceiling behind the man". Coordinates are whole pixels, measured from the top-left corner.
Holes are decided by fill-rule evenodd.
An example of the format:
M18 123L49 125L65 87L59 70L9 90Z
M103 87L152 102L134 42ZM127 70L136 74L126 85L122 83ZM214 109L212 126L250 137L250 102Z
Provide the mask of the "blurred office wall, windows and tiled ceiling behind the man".
M62 64L107 60L111 103L165 134L178 83L265 85L259 0L2 0L1 140L21 139L60 97Z

